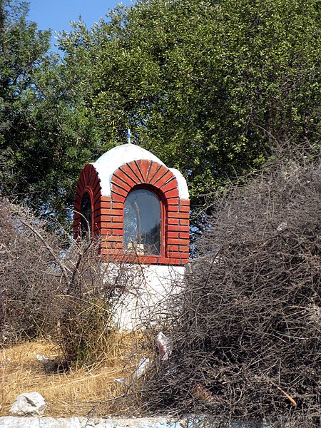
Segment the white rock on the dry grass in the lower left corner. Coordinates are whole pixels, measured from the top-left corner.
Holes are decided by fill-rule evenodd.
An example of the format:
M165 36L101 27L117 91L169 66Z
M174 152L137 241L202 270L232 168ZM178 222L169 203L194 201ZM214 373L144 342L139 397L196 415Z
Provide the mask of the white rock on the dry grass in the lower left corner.
M9 412L14 416L41 416L46 408L46 400L39 392L26 392L16 397Z

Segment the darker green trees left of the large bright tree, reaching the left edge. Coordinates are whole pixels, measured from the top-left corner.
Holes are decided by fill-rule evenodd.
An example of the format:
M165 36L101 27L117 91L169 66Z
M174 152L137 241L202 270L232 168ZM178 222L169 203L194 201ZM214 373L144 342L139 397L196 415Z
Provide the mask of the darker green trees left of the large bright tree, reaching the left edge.
M96 131L78 84L83 67L67 69L50 54L50 31L37 30L28 10L28 2L0 0L1 195L70 223L76 178L98 150Z

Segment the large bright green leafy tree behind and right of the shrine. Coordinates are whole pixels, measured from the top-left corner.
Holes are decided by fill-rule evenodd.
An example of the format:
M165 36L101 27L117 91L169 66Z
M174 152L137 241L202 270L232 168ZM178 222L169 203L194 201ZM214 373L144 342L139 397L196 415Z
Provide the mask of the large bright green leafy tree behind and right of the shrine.
M141 0L63 34L91 63L103 147L136 142L188 179L193 204L280 144L320 146L319 0Z

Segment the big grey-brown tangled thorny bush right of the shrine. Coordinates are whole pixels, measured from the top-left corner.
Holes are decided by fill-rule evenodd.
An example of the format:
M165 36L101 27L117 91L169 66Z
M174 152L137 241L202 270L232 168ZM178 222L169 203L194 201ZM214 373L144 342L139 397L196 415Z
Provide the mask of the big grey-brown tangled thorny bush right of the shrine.
M274 165L218 205L173 300L173 355L146 379L145 409L317 426L320 167Z

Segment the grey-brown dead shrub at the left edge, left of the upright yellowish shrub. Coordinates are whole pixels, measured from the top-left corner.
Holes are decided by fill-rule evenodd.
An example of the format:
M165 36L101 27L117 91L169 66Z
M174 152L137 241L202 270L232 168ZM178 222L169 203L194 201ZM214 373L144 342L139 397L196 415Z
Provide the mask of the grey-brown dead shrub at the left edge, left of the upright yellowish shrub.
M30 227L28 227L29 225ZM39 234L42 239L39 239ZM50 242L50 246L46 245ZM40 337L57 318L54 296L61 286L61 253L39 219L28 210L0 201L0 340ZM55 319L56 318L56 319Z

